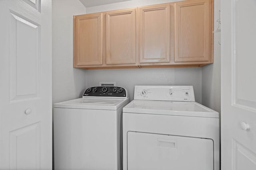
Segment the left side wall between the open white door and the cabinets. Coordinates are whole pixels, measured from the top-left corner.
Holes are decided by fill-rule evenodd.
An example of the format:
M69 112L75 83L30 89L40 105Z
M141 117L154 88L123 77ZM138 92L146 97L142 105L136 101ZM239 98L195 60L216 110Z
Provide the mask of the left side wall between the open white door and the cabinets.
M86 70L73 68L73 15L85 14L79 0L52 0L52 102L78 98Z

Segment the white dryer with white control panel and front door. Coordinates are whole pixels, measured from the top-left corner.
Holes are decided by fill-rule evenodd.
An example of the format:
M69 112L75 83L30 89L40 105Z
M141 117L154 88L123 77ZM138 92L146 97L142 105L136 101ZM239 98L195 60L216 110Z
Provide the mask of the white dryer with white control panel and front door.
M219 170L219 113L193 86L135 86L123 108L123 170Z

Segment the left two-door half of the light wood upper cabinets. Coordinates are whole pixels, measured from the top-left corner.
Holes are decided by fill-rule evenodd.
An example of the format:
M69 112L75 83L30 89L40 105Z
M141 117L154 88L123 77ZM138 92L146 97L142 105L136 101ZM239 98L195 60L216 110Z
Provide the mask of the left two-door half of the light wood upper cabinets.
M74 16L74 67L138 68L137 8Z

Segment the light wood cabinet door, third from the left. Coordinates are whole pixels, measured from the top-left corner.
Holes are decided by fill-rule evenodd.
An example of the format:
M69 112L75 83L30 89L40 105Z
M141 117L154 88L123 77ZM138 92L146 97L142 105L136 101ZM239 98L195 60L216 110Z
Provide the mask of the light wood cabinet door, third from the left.
M170 4L138 8L140 63L170 62Z

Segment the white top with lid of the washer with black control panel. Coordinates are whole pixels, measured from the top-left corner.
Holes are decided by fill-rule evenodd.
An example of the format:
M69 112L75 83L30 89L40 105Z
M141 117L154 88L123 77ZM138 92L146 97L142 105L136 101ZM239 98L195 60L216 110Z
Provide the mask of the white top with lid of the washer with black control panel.
M78 98L54 104L55 108L73 109L98 109L98 110L117 110L123 104L129 102L129 98Z

